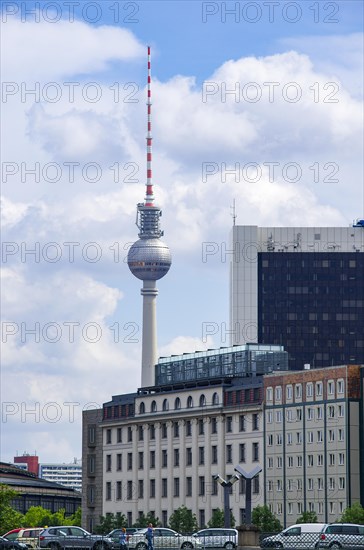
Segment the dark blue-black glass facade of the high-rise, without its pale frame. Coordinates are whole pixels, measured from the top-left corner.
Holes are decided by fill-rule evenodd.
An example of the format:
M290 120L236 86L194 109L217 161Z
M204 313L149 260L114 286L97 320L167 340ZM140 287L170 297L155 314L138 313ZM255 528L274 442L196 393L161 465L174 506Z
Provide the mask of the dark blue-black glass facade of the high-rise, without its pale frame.
M364 363L364 254L258 255L258 340L281 344L289 368Z

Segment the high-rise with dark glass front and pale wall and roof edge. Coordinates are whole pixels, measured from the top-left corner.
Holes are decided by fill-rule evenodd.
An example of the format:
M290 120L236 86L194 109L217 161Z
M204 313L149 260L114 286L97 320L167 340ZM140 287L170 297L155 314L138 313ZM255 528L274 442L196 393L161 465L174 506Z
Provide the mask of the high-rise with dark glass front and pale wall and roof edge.
M364 227L232 231L232 344L280 344L289 368L364 363Z

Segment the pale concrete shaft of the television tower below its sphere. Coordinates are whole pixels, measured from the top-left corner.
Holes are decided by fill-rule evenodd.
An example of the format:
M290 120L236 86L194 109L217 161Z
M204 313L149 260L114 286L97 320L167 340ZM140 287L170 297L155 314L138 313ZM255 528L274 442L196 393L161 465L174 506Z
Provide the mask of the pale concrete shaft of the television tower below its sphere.
M155 281L143 281L142 386L154 386L157 352L157 294Z

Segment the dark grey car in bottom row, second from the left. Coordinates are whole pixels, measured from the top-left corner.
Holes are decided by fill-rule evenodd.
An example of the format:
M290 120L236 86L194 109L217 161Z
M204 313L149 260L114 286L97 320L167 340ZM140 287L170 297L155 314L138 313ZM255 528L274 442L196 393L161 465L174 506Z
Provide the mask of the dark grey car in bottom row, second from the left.
M118 548L112 539L103 535L91 535L81 527L59 525L47 527L39 537L41 548L60 550L61 548L88 548L89 550L109 550Z

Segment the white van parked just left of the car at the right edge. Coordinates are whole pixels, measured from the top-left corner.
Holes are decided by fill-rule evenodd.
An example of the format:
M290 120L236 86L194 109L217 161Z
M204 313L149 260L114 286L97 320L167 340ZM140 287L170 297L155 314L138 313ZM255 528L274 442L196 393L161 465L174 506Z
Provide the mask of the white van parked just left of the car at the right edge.
M265 537L261 548L284 548L287 550L312 550L318 548L320 534L326 523L298 523L287 527L277 535Z

